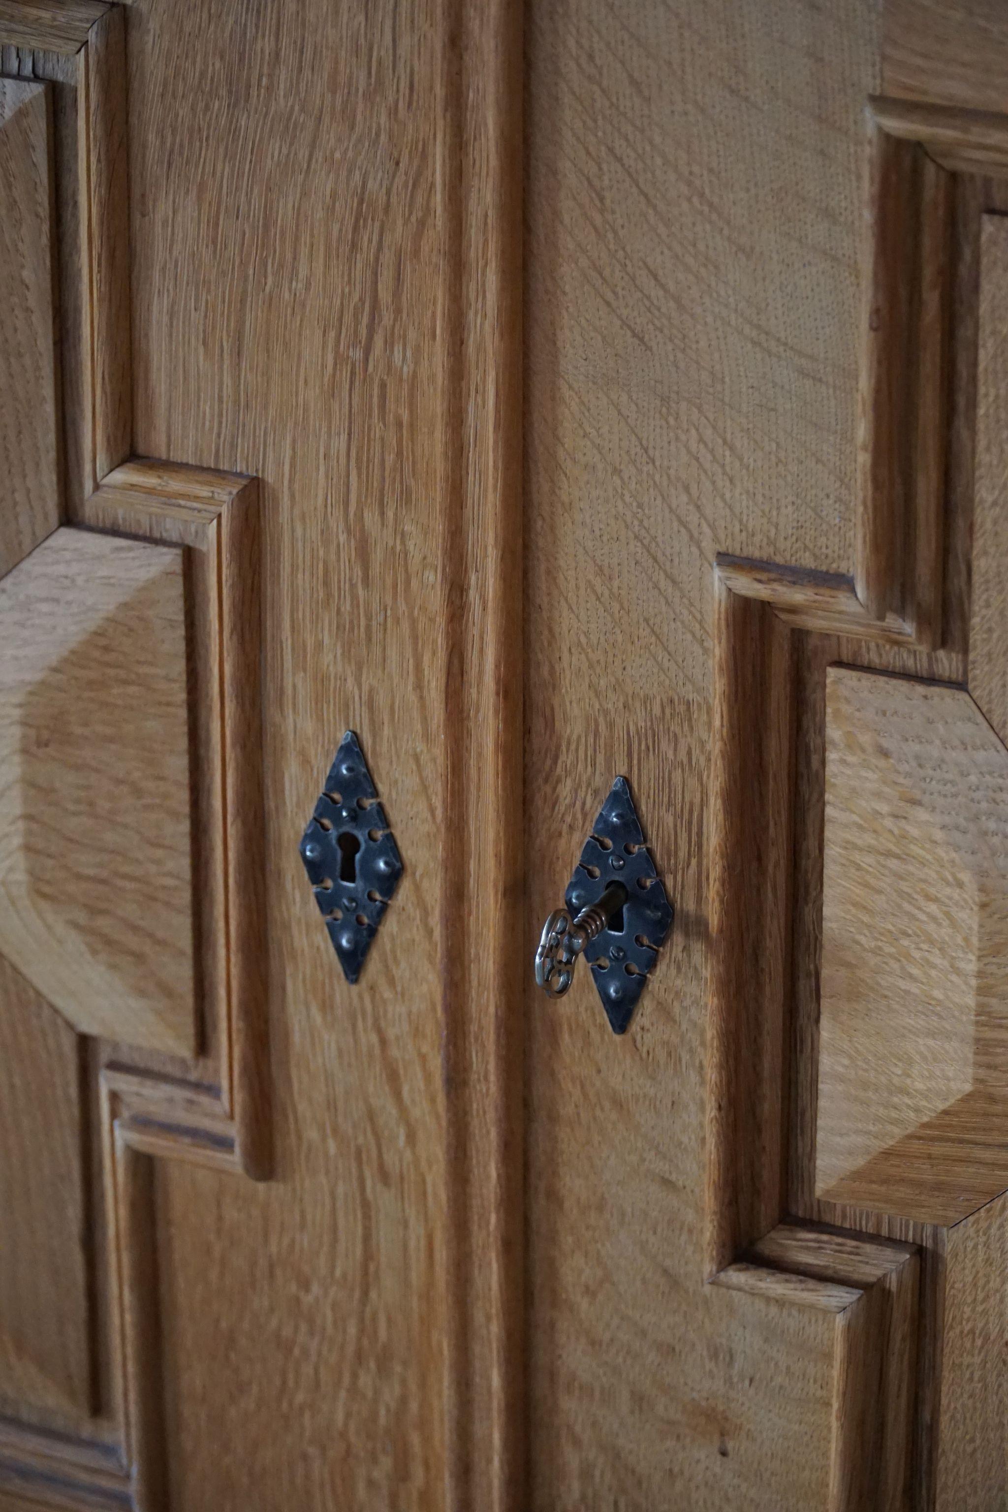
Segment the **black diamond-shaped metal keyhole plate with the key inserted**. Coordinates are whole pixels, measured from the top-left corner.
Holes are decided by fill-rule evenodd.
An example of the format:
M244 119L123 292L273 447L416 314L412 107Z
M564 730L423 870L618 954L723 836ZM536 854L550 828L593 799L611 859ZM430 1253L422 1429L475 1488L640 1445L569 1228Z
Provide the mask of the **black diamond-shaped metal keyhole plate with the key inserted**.
M574 868L564 897L571 918L597 903L611 881L626 886L627 901L585 947L585 960L612 1033L626 1034L676 916L644 844L626 777L617 777L609 789Z

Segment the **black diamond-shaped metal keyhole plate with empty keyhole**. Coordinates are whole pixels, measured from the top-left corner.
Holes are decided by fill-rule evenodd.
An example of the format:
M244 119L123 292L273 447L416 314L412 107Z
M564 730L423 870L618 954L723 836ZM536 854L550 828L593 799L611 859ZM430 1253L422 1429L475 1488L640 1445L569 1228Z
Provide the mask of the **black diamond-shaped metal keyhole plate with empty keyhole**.
M402 860L354 730L340 741L301 859L348 981L357 981Z

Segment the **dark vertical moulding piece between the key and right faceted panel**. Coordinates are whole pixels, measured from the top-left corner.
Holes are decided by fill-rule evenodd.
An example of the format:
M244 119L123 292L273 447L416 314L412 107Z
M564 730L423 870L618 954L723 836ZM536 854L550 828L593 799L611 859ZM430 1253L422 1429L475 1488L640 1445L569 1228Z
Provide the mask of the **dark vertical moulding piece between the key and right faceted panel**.
M718 585L712 729L707 1267L784 1213L790 635Z

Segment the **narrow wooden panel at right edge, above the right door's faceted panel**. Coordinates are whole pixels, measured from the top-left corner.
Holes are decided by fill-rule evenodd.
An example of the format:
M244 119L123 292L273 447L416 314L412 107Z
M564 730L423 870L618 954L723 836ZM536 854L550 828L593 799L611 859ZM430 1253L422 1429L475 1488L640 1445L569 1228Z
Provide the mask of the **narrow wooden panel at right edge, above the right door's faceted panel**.
M1008 221L985 215L979 239L970 692L1008 739Z

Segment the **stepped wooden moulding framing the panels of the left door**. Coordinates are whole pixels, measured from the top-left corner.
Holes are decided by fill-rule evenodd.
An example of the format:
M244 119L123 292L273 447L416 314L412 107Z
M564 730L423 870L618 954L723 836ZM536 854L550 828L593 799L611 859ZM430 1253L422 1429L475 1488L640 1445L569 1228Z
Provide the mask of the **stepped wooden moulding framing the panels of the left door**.
M110 1400L80 1432L0 1420L0 1492L62 1507L165 1506L153 1157L271 1173L255 479L128 458L125 27L97 0L0 0L0 67L62 91L56 136L63 508L71 525L184 549L204 1042L193 1061L89 1046L109 1269ZM192 700L190 700L192 703Z

